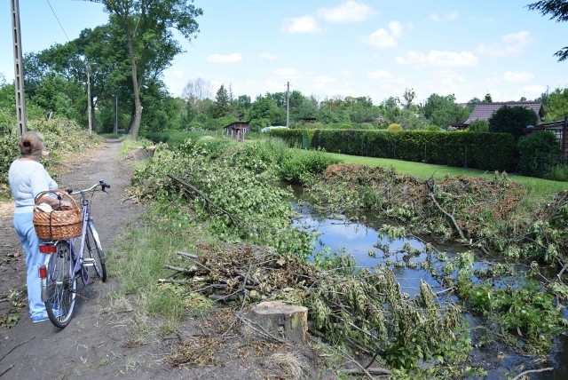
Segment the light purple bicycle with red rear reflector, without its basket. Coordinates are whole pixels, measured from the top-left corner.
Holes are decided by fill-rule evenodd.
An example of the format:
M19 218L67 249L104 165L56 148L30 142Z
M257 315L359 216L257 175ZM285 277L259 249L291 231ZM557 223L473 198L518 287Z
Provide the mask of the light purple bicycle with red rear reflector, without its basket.
M99 187L106 193L110 185L101 180L89 188L67 190L67 194L71 196L81 195L83 227L80 236L44 241L40 244L40 252L46 254L45 262L39 270L42 279L42 301L51 323L59 329L67 327L73 318L77 281L81 279L83 285L89 284L91 266L99 279L106 281L105 252L91 218L91 201L87 199L87 194L94 194ZM75 247L77 241L80 242L78 251ZM89 257L85 255L85 249Z

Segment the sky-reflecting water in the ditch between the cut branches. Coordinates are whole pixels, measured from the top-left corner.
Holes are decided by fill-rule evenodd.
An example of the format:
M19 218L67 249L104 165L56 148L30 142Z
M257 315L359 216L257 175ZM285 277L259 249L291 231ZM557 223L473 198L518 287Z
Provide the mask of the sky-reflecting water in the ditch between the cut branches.
M307 205L299 205L293 203L300 214L300 218L294 223L296 226L303 226L311 231L319 231L319 237L316 241L314 253L322 249L329 249L331 251L344 251L347 254L353 255L357 259L358 265L362 267L373 268L376 265L388 264L393 268L397 276L398 283L401 290L414 297L420 292L420 281L423 279L427 281L432 289L435 291L443 289L436 279L427 271L420 269L420 265L415 268L409 267L406 262L420 263L426 259L430 260L430 265L441 266L434 257L429 257L424 252L425 242L419 239L399 239L389 241L388 238L380 237L379 226L382 225L380 221L372 221L367 223L354 223L349 222L342 216L334 216L333 218L321 217L312 212ZM367 218L369 220L369 218ZM377 246L389 243L390 252L397 249L408 242L414 249L419 249L422 253L416 257L402 257L399 255L392 255L390 257L383 257L383 251L378 249ZM435 245L438 251L452 254L465 251L458 245L439 244L436 241L428 241ZM378 243L378 244L377 244ZM369 255L370 253L370 255ZM491 260L492 257L484 257L484 261ZM493 257L497 260L498 257ZM387 260L389 262L387 263ZM484 265L477 263L477 267ZM475 281L475 279L474 279ZM566 315L568 317L568 315ZM477 324L475 318L465 315L469 321L470 327ZM494 344L488 349L478 349L472 352L470 357L470 365L482 365L488 371L485 379L506 379L517 376L527 368L540 368L536 357L527 355L518 355L510 349L499 344ZM558 337L556 342L556 349L552 352L552 364L544 365L544 367L554 367L553 371L546 371L540 373L533 373L530 375L531 379L538 380L551 380L551 379L568 379L568 338Z

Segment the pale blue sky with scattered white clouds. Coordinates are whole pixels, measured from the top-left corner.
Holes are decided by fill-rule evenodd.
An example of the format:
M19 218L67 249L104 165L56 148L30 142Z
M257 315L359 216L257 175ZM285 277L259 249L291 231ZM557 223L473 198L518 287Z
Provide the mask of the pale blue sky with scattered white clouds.
M568 87L568 23L531 12L532 0L196 0L200 33L164 72L170 93L202 78L211 97L301 91L317 99L368 96L379 104L413 88L458 102L534 99ZM51 8L53 11L51 11ZM41 51L107 20L101 4L20 0L22 49ZM54 15L55 13L55 15ZM57 16L57 18L56 18ZM0 73L13 80L10 4L0 4ZM59 22L62 28L59 26ZM67 36L66 36L67 34Z

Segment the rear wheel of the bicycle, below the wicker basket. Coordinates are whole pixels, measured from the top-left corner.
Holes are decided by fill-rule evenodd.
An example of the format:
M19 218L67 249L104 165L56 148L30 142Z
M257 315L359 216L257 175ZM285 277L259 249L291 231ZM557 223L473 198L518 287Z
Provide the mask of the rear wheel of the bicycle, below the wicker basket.
M75 263L71 259L69 241L58 241L55 249L46 259L47 279L42 299L51 323L63 329L75 313L77 278L73 273Z

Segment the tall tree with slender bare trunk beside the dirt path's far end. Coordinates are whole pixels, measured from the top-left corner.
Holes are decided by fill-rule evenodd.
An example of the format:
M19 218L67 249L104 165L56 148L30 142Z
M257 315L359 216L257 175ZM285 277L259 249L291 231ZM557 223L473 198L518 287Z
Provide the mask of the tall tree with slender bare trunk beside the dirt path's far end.
M138 139L142 103L140 88L146 74L147 63L158 53L169 51L163 57L163 68L169 66L171 59L181 52L181 47L174 40L171 28L177 29L186 40L191 41L199 32L195 21L203 12L192 1L185 0L87 0L105 5L111 14L111 22L122 29L126 38L130 68L132 73L132 91L134 94L134 117L130 125L130 136ZM156 72L159 75L159 72Z

